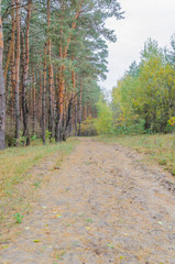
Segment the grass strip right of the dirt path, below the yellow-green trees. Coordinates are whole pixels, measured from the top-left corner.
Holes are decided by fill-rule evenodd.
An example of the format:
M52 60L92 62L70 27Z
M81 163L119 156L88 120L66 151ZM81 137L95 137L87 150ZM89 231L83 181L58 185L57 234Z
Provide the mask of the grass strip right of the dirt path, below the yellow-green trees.
M147 154L149 161L155 161L175 175L175 133L154 135L99 136L106 143L119 143L140 153Z

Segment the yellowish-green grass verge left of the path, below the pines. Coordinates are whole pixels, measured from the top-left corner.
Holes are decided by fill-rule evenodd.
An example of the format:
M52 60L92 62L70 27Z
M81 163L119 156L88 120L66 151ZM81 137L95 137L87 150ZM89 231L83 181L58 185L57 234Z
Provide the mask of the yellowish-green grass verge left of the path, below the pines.
M11 147L0 152L0 223L12 224L14 213L25 213L30 208L28 194L21 194L19 186L25 185L30 179L32 191L41 187L42 176L32 177L30 168L42 161L47 161L56 154L56 163L63 161L63 156L70 153L77 141L69 139L67 142L48 145L35 145L29 147ZM52 160L52 158L51 158ZM25 204L25 206L24 206ZM28 204L28 206L26 206Z

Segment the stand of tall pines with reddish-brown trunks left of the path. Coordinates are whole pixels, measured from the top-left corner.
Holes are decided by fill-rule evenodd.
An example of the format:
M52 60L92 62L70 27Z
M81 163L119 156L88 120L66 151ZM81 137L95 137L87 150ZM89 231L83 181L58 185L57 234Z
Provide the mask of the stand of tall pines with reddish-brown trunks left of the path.
M80 135L97 116L111 16L122 19L116 0L1 1L0 148Z

